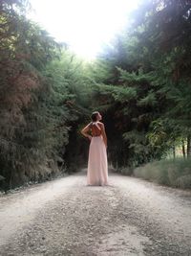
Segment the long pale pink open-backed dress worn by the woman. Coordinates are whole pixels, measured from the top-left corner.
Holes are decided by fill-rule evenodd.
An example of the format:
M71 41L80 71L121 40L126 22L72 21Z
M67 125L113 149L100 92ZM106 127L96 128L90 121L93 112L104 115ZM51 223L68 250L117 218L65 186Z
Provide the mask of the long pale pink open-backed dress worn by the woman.
M92 140L89 148L87 185L108 185L107 151L98 122L90 124Z

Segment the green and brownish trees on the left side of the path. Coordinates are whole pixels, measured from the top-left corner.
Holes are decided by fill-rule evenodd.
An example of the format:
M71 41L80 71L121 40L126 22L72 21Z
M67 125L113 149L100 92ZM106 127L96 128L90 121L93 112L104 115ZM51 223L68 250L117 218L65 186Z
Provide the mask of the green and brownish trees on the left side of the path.
M81 116L77 86L84 85L84 67L25 18L24 4L0 4L0 175L5 189L64 172L70 126Z

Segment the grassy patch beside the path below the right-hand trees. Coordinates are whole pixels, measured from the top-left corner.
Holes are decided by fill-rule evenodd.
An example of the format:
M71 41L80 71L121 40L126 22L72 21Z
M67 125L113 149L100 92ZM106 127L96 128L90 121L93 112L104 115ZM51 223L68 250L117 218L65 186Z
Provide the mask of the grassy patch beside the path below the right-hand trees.
M136 168L134 175L161 185L191 189L191 159L155 161Z

